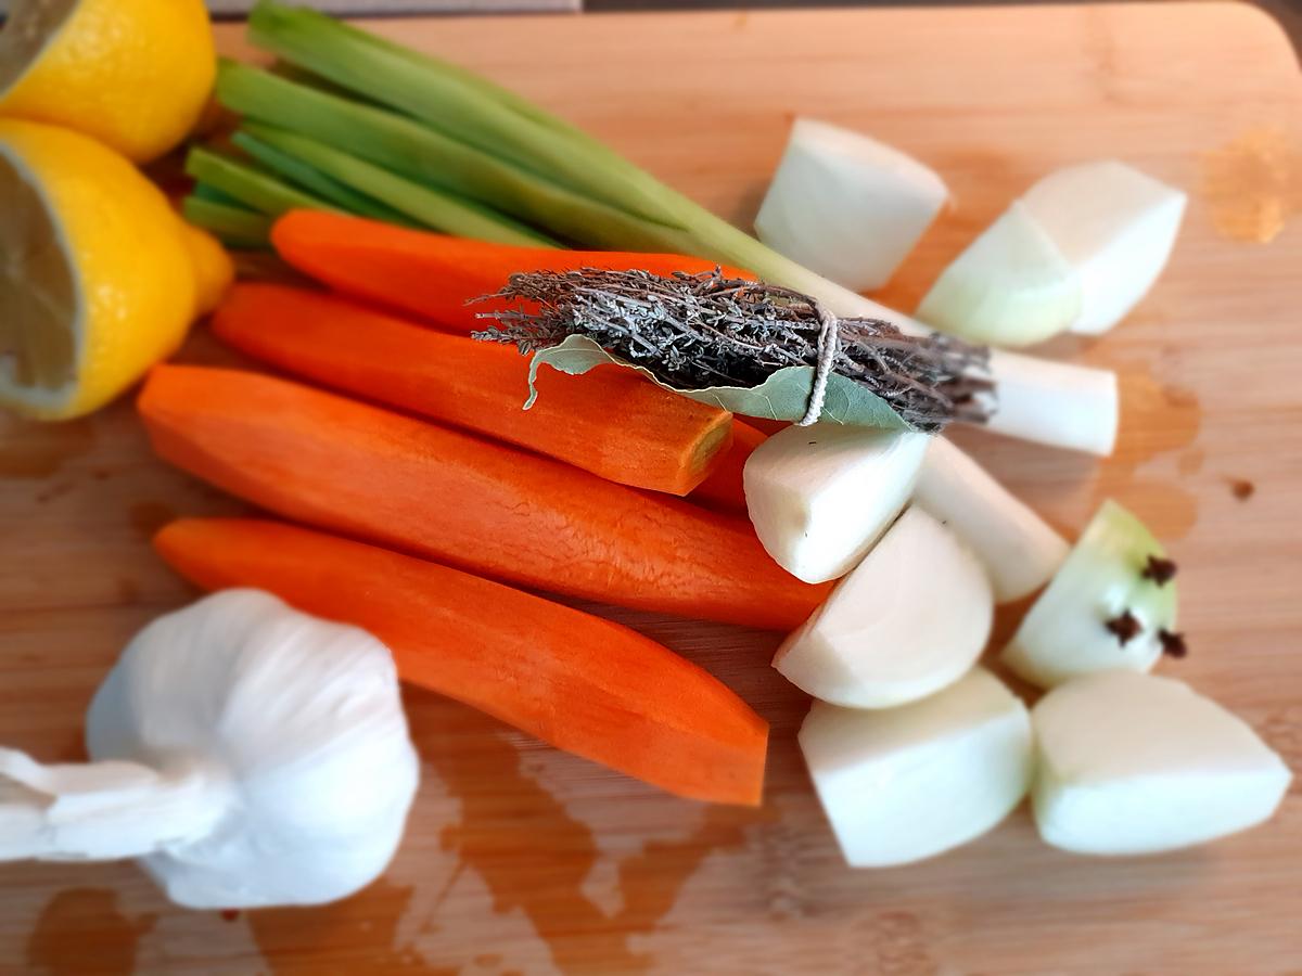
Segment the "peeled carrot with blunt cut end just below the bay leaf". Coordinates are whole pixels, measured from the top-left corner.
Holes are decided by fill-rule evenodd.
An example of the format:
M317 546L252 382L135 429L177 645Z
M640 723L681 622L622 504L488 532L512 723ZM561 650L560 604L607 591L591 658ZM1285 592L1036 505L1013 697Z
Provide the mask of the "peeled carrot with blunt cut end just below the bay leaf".
M348 299L237 285L214 331L263 362L349 393L536 450L634 488L686 495L723 459L732 414L633 372L539 371L513 346L413 325Z

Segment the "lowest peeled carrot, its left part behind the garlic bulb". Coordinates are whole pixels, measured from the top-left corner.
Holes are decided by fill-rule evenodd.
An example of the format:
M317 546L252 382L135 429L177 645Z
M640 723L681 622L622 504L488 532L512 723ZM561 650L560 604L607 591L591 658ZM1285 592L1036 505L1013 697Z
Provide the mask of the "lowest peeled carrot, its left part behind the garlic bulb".
M768 726L721 682L611 621L469 573L253 519L154 539L204 590L256 587L368 630L398 677L669 793L759 803Z

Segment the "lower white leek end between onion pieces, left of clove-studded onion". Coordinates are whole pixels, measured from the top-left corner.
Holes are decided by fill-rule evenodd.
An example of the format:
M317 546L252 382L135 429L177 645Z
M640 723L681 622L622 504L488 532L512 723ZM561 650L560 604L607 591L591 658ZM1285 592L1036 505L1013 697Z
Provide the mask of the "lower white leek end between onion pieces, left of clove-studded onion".
M1044 519L944 437L931 439L914 498L986 563L1001 604L1048 583L1070 550Z

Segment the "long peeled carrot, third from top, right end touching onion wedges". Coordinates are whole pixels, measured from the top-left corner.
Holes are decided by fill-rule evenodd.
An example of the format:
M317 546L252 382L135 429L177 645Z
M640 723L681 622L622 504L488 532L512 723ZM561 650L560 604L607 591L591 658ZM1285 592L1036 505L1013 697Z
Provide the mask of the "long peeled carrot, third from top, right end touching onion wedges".
M500 580L772 629L828 591L742 519L296 383L160 366L139 411L164 459L233 495Z

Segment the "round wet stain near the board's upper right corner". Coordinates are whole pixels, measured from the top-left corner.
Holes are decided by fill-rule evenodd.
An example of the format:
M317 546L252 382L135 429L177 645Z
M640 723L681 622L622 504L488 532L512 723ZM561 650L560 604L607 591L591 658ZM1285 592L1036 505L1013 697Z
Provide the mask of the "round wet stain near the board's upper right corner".
M1269 243L1302 213L1302 143L1262 126L1203 155L1203 202L1221 237Z

